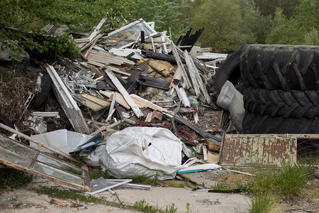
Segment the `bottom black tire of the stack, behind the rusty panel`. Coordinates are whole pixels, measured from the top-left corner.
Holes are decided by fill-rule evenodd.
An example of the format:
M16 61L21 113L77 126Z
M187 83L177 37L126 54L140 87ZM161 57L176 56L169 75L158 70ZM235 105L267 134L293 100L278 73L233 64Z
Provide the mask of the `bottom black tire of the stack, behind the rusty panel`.
M319 118L296 119L252 114L245 111L243 133L319 133Z

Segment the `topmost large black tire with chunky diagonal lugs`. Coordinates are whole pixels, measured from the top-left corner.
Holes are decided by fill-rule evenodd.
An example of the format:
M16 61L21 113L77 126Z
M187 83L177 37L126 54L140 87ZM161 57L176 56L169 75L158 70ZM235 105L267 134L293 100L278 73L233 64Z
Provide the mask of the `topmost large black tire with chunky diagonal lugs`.
M244 45L240 67L246 87L319 89L319 46Z

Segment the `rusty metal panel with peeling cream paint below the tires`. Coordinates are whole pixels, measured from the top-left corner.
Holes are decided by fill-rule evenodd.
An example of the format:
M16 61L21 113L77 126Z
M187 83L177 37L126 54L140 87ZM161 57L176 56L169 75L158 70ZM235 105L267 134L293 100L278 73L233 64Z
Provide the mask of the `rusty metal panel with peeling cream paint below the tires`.
M291 135L224 134L219 153L219 164L224 166L281 166L296 160L297 138Z

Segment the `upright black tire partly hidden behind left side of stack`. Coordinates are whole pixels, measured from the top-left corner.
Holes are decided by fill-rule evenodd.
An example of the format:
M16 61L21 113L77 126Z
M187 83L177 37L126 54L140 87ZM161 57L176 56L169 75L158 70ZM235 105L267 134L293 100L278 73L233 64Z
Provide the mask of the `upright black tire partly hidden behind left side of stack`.
M221 92L221 87L223 87L226 81L229 80L229 77L232 74L232 72L234 70L237 70L237 67L239 69L241 50L242 48L235 50L234 53L227 55L226 60L224 60L221 66L218 69L216 69L216 73L212 77L213 84L211 84L211 92L213 93L214 97L216 97L216 99L218 98L219 93ZM234 84L234 82L232 83ZM242 92L240 91L242 88L243 87L241 87L241 85L239 85L239 88L236 87L236 89L239 90L239 92Z

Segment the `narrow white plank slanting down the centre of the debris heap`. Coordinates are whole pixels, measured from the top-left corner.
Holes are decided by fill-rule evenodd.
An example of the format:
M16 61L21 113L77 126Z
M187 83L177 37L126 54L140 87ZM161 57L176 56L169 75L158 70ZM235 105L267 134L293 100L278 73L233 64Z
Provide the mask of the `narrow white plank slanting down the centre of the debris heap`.
M110 80L112 80L113 84L115 84L115 87L117 88L117 90L122 94L122 96L124 97L127 104L130 105L130 107L132 108L132 110L133 110L134 114L137 116L137 118L144 116L144 114L142 113L140 108L137 107L136 103L130 97L130 94L128 94L128 92L122 86L122 84L117 79L117 77L114 75L114 73L111 70L109 70L108 67L104 71L108 75L108 77L110 77Z

